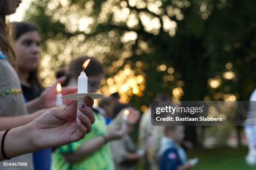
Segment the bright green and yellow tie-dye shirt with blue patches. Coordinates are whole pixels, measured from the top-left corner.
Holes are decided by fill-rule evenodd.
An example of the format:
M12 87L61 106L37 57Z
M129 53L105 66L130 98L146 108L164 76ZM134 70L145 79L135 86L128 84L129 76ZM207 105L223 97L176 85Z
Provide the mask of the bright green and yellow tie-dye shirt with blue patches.
M105 134L107 130L105 118L96 110L93 109L93 111L96 121L92 125L92 131L87 134L84 139L56 149L52 157L52 170L114 170L113 157L108 143L96 150L92 155L73 164L66 162L62 155L63 153L74 152L78 150L83 143Z

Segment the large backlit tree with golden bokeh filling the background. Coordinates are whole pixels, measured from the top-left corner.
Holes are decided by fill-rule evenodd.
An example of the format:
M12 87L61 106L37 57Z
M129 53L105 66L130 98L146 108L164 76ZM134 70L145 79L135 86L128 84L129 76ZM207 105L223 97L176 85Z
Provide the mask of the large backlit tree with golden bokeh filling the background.
M118 91L145 110L158 92L173 100L248 100L256 82L255 5L37 0L26 19L42 30L45 85L75 55L97 56L107 67L102 92Z

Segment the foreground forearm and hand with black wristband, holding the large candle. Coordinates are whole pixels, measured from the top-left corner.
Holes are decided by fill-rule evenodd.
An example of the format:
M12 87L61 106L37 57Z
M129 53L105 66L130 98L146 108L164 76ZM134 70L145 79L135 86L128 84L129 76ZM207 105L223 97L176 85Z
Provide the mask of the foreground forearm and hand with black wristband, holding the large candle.
M87 98L88 96L84 100L88 106ZM82 107L81 104L79 110L78 118L80 121L78 122L76 121L77 101L74 101L65 110L53 108L27 125L11 129L4 140L5 155L8 158L13 158L83 139L92 130L95 116L90 107ZM2 143L3 134L3 131L0 132L0 143ZM0 161L2 160L5 158L0 147Z

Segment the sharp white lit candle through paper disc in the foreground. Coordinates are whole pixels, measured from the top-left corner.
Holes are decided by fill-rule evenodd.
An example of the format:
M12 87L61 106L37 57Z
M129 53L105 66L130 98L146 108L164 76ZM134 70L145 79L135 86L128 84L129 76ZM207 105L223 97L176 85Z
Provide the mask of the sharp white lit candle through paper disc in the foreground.
M77 83L77 94L81 93L87 93L87 84L88 84L88 77L86 76L84 69L87 67L91 59L88 59L84 62L82 65L83 71L78 77L78 83ZM78 96L77 97L77 113L79 112L78 106L80 104L84 104L84 96ZM77 114L78 115L78 114ZM77 117L77 121L80 121L79 118Z

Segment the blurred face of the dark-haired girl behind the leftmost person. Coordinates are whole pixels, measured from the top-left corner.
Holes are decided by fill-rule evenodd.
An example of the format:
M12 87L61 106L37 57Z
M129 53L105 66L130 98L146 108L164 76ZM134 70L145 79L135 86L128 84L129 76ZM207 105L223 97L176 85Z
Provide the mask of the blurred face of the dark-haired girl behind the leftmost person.
M40 57L40 36L37 31L26 32L15 42L17 66L22 71L33 71L38 67Z

